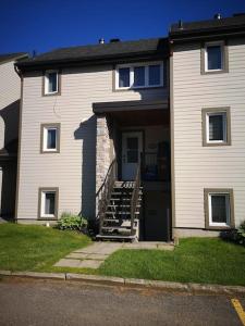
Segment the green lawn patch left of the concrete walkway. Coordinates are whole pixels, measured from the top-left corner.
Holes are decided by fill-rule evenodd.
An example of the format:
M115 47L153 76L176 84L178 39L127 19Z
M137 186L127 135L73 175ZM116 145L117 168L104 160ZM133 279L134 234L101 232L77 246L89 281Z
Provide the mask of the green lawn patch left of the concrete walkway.
M74 231L0 224L0 269L48 271L59 259L89 241Z

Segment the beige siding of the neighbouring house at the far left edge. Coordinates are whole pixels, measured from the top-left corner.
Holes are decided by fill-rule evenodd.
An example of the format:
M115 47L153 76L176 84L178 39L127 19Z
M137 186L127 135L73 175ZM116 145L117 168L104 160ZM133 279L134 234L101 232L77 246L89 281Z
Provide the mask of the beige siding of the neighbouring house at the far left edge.
M14 61L0 64L0 149L3 148L4 141L9 142L17 138L17 115L15 110L16 106L19 108L19 102L16 103L16 101L20 100L20 97L21 78L14 71ZM5 125L1 116L1 110L7 108L10 110L10 113L8 114L8 134L5 135L8 139L4 139Z

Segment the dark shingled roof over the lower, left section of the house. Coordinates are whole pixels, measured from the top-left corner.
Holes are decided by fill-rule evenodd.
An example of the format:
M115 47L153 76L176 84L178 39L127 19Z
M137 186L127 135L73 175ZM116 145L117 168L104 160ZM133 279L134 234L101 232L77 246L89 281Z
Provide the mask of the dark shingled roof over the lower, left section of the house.
M168 39L152 38L136 41L119 41L94 46L61 48L24 60L16 65L21 68L27 66L40 66L47 63L95 62L140 54L168 55Z

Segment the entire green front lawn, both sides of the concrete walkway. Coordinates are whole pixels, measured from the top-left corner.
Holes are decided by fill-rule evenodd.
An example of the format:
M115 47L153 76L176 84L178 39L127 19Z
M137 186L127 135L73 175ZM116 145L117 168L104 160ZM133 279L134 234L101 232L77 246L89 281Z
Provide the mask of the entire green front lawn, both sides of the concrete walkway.
M119 250L98 269L53 264L89 238L42 226L0 225L0 269L66 272L245 286L245 248L216 238L182 239L174 251Z

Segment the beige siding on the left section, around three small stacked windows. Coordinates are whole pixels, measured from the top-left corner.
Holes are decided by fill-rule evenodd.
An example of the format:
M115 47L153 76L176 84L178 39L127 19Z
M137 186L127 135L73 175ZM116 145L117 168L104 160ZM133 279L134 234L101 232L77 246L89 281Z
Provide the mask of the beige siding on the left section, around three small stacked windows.
M162 99L162 88L112 91L112 65L65 68L61 96L41 97L41 73L24 78L17 218L37 218L39 187L59 188L63 211L95 217L96 117L93 102ZM60 153L41 155L40 124L60 123Z

